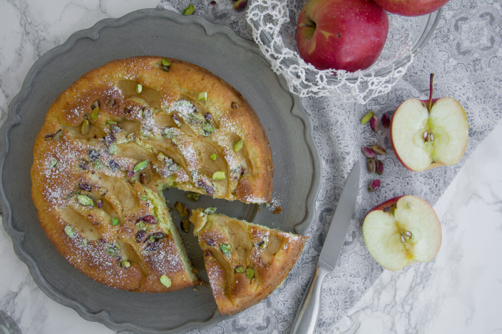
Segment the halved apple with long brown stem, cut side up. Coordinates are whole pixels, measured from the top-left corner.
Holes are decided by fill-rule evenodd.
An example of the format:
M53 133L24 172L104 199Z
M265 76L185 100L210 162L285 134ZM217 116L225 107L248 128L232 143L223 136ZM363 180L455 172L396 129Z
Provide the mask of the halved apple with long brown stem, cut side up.
M411 171L452 165L465 152L469 139L467 114L450 97L409 99L401 103L391 121L392 147L399 161Z

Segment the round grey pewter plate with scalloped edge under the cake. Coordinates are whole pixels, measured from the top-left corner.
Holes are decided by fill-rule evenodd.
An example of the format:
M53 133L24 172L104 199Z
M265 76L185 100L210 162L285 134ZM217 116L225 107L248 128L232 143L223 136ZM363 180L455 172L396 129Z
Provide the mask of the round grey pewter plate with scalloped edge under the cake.
M55 301L74 308L83 318L114 330L138 332L187 331L208 328L222 319L209 287L169 293L117 290L89 279L73 268L45 236L31 200L30 168L35 137L51 103L89 70L114 59L139 55L178 58L202 66L235 87L253 106L272 148L275 175L273 214L265 206L213 200L202 196L190 203L186 193L165 192L172 205L190 208L215 205L218 212L288 232L304 234L314 218L321 176L320 159L310 120L298 97L251 42L228 27L198 16L165 10L141 10L106 19L76 32L66 43L42 56L28 72L0 130L0 205L4 227L19 258L38 286ZM180 218L175 216L175 223ZM207 280L201 251L190 234L182 233L199 276ZM237 316L237 315L234 315Z

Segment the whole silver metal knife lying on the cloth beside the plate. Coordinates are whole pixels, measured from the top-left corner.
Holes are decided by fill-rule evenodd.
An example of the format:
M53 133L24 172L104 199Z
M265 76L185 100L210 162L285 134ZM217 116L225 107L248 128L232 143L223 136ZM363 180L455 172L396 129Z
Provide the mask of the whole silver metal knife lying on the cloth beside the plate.
M317 268L296 313L293 326L291 327L291 334L310 334L315 330L321 306L322 280L328 272L334 270L336 262L338 262L343 241L350 224L350 218L355 208L355 200L357 199L357 191L359 190L359 170L359 161L357 161L352 167L352 171L343 187L328 234L322 246L321 254L319 255Z

